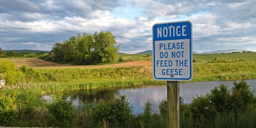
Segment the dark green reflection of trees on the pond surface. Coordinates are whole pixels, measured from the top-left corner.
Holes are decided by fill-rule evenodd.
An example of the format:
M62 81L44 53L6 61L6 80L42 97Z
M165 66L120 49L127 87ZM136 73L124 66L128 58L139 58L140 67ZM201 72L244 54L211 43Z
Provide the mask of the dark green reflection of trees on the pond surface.
M79 90L72 91L70 95L79 103L97 103L100 99L109 100L115 98L115 95L119 95L118 88L103 88L93 90Z

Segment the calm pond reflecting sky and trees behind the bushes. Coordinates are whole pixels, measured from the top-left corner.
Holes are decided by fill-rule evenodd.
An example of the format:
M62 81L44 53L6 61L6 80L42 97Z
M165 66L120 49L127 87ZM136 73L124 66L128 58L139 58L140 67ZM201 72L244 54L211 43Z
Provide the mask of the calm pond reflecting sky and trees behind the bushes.
M256 79L245 80L251 86L251 90L256 90ZM204 81L204 82L187 82L180 83L180 96L184 98L185 103L190 103L196 95L205 95L215 87L223 83L232 88L233 81ZM86 91L73 91L71 96L74 98L75 105L98 102L100 99L109 100L119 95L126 94L129 101L134 106L134 114L142 113L144 103L148 100L152 103L154 112L158 111L158 105L161 99L167 97L167 87L163 86L135 86L135 87L115 87L101 88ZM48 96L46 96L48 97ZM45 97L45 98L46 98Z

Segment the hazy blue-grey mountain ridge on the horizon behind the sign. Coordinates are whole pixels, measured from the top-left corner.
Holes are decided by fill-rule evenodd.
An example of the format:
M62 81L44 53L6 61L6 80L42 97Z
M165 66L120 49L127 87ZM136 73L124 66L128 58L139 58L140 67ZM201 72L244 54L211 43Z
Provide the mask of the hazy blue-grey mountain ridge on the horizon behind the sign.
M213 54L213 53L232 53L232 52L250 52L248 50L241 50L241 49L230 49L230 50L216 50L216 51L210 51L210 52L193 52L193 54ZM146 50L143 52L139 52L136 54L153 54L153 50Z

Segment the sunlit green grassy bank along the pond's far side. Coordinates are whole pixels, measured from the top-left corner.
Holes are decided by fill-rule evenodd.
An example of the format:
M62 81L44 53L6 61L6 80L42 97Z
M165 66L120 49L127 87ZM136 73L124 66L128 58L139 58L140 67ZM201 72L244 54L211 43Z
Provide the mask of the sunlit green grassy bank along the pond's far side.
M122 57L124 59L134 57L132 60L137 60L146 55L123 55ZM191 82L256 78L256 53L199 54L194 55L193 59L195 62ZM44 65L43 62L40 63L40 66L42 65ZM74 66L61 69L48 67L31 71L37 72L39 76L35 78L28 74L26 82L7 85L2 90L27 90L44 94L63 90L165 84L166 82L153 79L152 66L113 68L75 68Z

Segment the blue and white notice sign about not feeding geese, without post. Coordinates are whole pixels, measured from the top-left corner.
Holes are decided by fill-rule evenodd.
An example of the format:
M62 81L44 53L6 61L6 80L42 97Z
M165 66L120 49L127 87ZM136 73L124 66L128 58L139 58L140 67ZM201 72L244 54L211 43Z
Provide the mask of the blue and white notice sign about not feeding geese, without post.
M152 31L153 77L170 81L192 79L191 22L159 23Z

